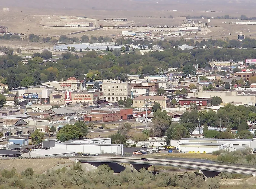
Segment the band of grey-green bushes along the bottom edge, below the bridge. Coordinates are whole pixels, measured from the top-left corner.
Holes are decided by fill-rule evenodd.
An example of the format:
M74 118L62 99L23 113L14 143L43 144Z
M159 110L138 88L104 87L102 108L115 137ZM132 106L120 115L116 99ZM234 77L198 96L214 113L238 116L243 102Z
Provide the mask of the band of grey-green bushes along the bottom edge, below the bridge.
M47 171L47 174L35 174L32 168L27 168L18 174L14 168L1 170L0 188L35 188L35 189L64 189L64 188L198 188L218 189L220 179L208 178L198 172L186 172L182 174L161 173L153 175L145 168L138 173L131 169L125 169L121 174L114 174L107 165L101 165L95 170L84 170L78 162L71 167Z

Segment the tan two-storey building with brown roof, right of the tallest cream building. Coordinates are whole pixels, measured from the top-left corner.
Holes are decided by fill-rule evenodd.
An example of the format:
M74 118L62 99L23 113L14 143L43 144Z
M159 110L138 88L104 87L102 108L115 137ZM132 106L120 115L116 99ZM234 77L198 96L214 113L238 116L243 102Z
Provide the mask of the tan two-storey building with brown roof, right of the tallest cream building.
M138 96L132 100L135 108L152 108L155 102L159 103L162 109L169 108L170 105L170 99L166 96Z

